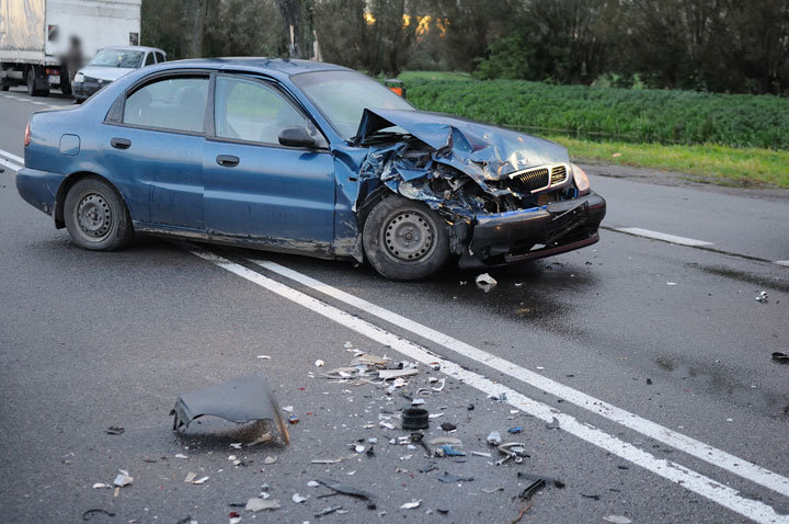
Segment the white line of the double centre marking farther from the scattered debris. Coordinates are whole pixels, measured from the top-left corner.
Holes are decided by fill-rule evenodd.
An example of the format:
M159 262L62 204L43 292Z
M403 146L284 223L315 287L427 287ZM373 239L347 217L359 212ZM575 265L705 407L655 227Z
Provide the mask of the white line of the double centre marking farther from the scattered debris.
M664 428L621 408L617 408L616 406L560 384L538 373L526 369L525 367L521 367L517 364L461 342L447 334L402 317L393 311L389 311L388 309L364 300L363 298L358 298L354 295L332 287L310 276L304 275L289 267L285 267L275 262L259 260L250 261L265 267L268 271L296 281L319 293L378 317L381 320L386 320L387 322L430 340L431 342L435 342L436 344L439 344L459 355L484 364L498 372L541 389L542 391L562 398L568 402L572 402L587 411L629 428L630 430L637 431L642 435L663 442L664 444L673 446L684 453L687 453L688 455L693 455L694 457L700 458L713 466L718 466L747 480L764 486L765 488L771 489L785 497L789 497L789 478L765 469L756 464L735 457L734 455L712 447L704 442L691 438L668 428Z

